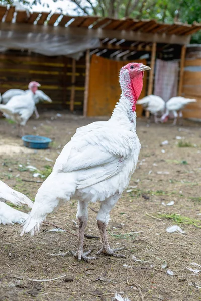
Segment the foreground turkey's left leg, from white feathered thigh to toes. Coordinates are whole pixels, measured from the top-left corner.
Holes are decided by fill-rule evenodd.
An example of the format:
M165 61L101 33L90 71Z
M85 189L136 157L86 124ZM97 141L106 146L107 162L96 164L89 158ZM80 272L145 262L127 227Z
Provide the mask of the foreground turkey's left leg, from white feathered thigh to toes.
M88 220L88 202L78 201L77 218L79 221L78 247L76 252L72 251L72 254L78 259L78 261L81 261L82 259L85 261L96 259L96 257L88 257L92 250L85 253L83 251L84 232Z

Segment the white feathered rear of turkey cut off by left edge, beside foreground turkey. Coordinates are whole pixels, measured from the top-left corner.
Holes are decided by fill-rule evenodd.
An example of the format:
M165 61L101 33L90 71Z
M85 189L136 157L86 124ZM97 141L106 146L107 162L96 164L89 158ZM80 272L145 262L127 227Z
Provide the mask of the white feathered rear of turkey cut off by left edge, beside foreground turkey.
M17 206L27 205L30 208L32 208L33 202L24 194L10 188L4 182L0 181L0 224L23 224L26 221L28 214L10 207L4 203L6 201Z

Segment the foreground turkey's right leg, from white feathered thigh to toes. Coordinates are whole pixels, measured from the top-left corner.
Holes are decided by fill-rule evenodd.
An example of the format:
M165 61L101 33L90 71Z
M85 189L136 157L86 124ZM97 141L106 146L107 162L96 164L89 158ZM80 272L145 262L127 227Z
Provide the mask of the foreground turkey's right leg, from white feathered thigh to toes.
M100 237L101 237L103 246L97 252L96 255L103 253L105 255L110 255L110 256L115 256L115 257L123 257L123 258L126 257L125 255L115 253L116 251L121 251L121 250L124 250L125 248L111 249L109 242L108 242L107 232L106 232L108 220L110 217L110 211L114 207L114 205L117 203L118 199L119 199L119 196L117 196L116 198L113 197L110 199L106 199L105 201L101 202L100 210L98 211L98 215L97 215L97 226L100 231Z

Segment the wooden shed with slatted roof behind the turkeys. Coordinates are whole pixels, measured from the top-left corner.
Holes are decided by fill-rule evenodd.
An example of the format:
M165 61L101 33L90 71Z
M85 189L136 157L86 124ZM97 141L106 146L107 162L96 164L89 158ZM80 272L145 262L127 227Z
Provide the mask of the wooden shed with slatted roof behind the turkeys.
M0 21L4 37L1 40L0 36L0 93L10 88L26 89L29 81L36 80L53 99L52 104L43 106L79 110L84 116L111 114L120 93L118 71L127 61L140 59L151 67L145 77L142 97L153 93L156 57L167 59L169 56L179 60L178 95L186 94L186 78L189 77L184 71L186 45L191 34L201 29L201 24L196 22L193 25L162 24L155 20L117 20L43 12L28 16L26 11L16 12L14 7L8 10L0 7ZM78 60L72 53L62 53L61 39L66 43L69 37L80 38L80 46L83 38L91 41L90 47L82 47L83 55L80 47L75 45L75 53L76 49L80 53ZM47 55L44 50L46 38L51 40L48 47L51 49L46 48ZM34 39L37 49L33 43L28 43L30 39ZM54 44L58 39L60 44ZM99 41L95 46L94 39ZM201 99L198 107L200 103ZM141 114L142 109L138 107L138 111Z

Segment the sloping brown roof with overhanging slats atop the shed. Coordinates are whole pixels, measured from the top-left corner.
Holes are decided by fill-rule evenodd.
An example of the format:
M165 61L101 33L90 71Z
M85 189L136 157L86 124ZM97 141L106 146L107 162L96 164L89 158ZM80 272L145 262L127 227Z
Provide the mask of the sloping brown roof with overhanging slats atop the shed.
M44 26L76 27L106 29L114 31L140 31L142 33L160 33L167 35L188 36L201 29L201 23L194 22L192 25L175 22L163 24L155 20L136 20L131 18L113 19L96 16L65 16L62 14L33 12L29 16L26 11L15 11L14 7L7 9L0 6L0 21L6 23L28 23Z

